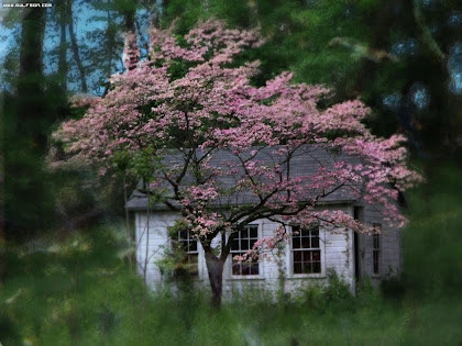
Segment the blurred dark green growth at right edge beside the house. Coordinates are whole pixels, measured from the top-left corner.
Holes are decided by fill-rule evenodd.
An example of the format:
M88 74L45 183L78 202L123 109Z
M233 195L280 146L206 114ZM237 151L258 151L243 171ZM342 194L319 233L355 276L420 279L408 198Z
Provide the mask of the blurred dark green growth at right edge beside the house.
M462 287L462 168L440 161L427 185L409 196L403 231L404 280L413 294L460 295Z

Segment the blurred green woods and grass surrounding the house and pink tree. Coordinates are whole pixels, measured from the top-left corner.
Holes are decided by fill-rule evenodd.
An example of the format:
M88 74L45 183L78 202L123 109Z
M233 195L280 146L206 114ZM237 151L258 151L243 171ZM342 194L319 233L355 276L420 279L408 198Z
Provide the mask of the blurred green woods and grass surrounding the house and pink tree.
M2 8L0 29L0 342L54 344L458 344L462 341L462 3L455 0L56 0ZM408 196L404 272L352 297L330 289L270 303L264 292L213 311L202 295L146 291L129 265L123 189L78 166L48 169L51 133L81 118L123 71L123 34L141 58L147 27L201 20L260 27L255 85L290 70L336 101L361 98L376 135L406 135L426 183Z

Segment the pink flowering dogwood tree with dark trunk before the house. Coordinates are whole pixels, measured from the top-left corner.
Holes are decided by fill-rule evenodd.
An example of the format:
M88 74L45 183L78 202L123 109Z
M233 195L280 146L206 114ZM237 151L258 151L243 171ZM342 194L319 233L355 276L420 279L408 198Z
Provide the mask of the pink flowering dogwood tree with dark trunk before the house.
M290 83L289 72L253 86L258 63L235 66L235 58L262 43L256 32L208 21L184 37L158 30L151 37L150 59L138 63L136 52L127 52L127 72L113 76L111 90L94 99L82 119L63 123L54 138L101 175L121 155L129 164L140 153L152 155L157 168L144 192L165 191L162 203L180 213L201 243L215 303L231 242L255 220L280 227L241 260L275 247L292 223L372 232L346 213L317 209L340 190L380 205L385 220L403 225L398 190L420 176L406 167L403 136L380 138L364 126L369 109L361 101L320 109L330 90ZM312 148L330 155L330 164L294 174L294 163Z

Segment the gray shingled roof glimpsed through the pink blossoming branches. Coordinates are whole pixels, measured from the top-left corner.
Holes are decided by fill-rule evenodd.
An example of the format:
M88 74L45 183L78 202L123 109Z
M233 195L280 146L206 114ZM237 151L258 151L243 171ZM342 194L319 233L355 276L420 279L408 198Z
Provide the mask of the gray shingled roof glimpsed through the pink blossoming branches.
M283 156L276 154L275 152L283 146L274 147L264 147L257 148L258 153L255 156L255 160L258 161L258 165L264 166L274 166L277 164ZM174 165L180 165L183 163L182 153L169 154L164 160L163 165L167 167L174 167ZM202 150L196 150L198 157L204 156ZM245 157L250 153L240 154L241 157ZM318 169L322 166L327 169L332 168L333 165L338 161L348 161L351 164L360 163L358 157L352 157L332 149L328 149L320 146L305 145L298 148L295 152L295 155L290 159L289 165L289 175L290 177L312 177ZM209 166L212 168L222 168L223 171L230 171L231 168L239 168L242 171L241 164L237 155L228 149L217 149L212 152ZM285 166L285 169L287 167ZM286 171L287 172L287 171ZM235 186L237 181L240 179L241 175L238 174L223 174L216 177L217 186L222 190L227 191L228 189ZM193 183L194 179L191 174L188 172L184 179L185 186ZM264 183L264 181L262 181ZM141 188L141 183L139 185ZM162 189L167 191L173 191L172 187L165 180L161 185ZM355 187L358 190L358 186ZM320 203L353 203L358 200L358 192L354 193L353 189L350 187L343 187L334 191L333 193L327 196L320 200ZM307 200L309 196L307 196ZM174 199L167 199L168 202L173 205L178 207L178 202ZM231 205L241 205L241 204L253 204L258 201L256 194L251 191L239 191L235 193L229 193L226 196L219 196L215 201L217 208L231 207ZM129 210L141 211L146 210L147 208L147 197L145 193L140 192L139 190L133 191L130 200L127 203ZM152 208L152 210L168 210L165 203L158 203Z

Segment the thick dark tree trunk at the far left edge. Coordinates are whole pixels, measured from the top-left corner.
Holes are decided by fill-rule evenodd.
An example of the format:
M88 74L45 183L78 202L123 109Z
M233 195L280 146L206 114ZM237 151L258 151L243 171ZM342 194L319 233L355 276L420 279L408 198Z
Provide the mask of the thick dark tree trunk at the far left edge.
M47 146L47 102L44 101L43 41L45 10L24 11L19 42L19 76L15 93L6 98L2 143L8 144L3 155L6 239L23 241L44 224L47 205L41 156ZM3 209L4 208L4 209ZM0 260L2 263L2 260ZM1 264L0 264L1 266Z

